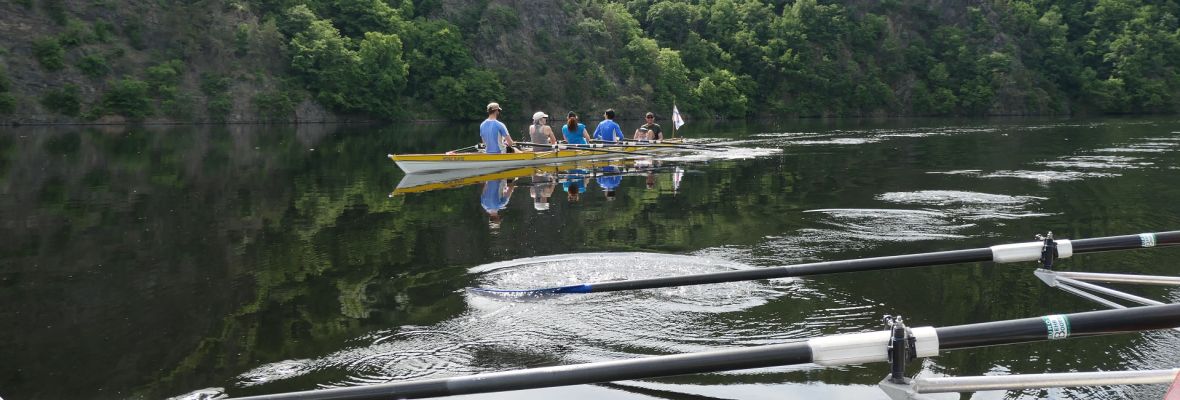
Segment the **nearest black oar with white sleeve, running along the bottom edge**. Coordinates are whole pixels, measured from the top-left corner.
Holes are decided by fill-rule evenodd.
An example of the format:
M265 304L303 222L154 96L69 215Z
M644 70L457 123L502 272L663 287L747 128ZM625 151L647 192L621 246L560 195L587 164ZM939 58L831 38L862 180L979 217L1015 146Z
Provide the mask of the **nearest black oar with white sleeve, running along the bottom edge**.
M911 343L913 347L911 348L914 349L916 356L925 358L938 355L943 350L970 347L1167 329L1178 326L1180 326L1180 304L1148 306L942 328L912 328L913 341ZM890 341L891 332L879 330L813 337L781 345L268 394L242 399L421 399L793 366L808 362L821 366L881 362L887 359L886 346L890 345Z

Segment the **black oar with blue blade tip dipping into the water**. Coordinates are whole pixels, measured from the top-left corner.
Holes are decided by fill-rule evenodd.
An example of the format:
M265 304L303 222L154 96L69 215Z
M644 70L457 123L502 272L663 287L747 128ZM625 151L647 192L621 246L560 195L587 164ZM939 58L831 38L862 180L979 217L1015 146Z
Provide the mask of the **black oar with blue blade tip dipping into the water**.
M1057 240L1055 242L1057 243L1057 253L1060 254L1060 257L1066 258L1073 254L1082 254L1082 253L1139 249L1139 248L1149 248L1155 245L1175 245L1180 244L1180 230L1155 232L1155 234L1083 238L1076 241ZM956 263L983 262L983 261L1010 263L1010 262L1040 260L1041 247L1043 244L1044 242L1001 244L1001 245L992 245L990 248L969 249L969 250L950 250L950 251L935 251L935 253L923 253L923 254L912 254L902 256L815 262L815 263L798 264L798 265L755 268L755 269L743 269L736 271L657 277L657 278L635 280L635 281L582 283L582 284L563 286L556 288L524 289L524 290L472 288L471 290L480 293L519 294L519 295L598 293L598 291L667 288L667 287L689 286L689 284L769 280L769 278L789 277L789 276L856 273L856 271L867 271L878 269L942 265L942 264L956 264Z

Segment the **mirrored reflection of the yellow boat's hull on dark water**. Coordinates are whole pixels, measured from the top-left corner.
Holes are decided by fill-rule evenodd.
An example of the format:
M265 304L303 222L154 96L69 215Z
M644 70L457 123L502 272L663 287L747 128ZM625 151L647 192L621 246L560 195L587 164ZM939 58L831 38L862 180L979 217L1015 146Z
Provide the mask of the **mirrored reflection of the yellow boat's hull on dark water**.
M564 171L582 169L594 170L608 165L623 166L622 172L630 172L628 166L637 166L634 160L590 160L581 163L557 163L546 165L532 165L512 169L473 169L473 170L442 170L421 173L407 173L393 195L414 194L431 190L451 189L487 182L492 179L522 178L531 175L560 175ZM650 163L644 170L650 169Z

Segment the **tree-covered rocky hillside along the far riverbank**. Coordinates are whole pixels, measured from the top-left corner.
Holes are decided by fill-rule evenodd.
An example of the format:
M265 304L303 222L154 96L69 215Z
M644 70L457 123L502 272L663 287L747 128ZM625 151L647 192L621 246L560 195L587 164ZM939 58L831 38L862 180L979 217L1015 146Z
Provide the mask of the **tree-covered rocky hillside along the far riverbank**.
M0 122L1172 113L1180 2L12 0ZM631 114L634 117L634 114Z

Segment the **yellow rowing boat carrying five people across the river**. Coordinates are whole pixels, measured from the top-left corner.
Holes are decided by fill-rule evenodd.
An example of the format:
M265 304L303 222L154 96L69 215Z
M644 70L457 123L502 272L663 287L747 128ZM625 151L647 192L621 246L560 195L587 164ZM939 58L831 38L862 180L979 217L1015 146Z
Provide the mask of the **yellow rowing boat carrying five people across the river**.
M683 149L678 142L644 143L628 145L592 144L588 147L559 145L555 151L483 153L483 152L446 152L432 155L389 155L389 158L406 173L473 170L473 169L509 169L537 164L564 163L596 158L642 157L654 152Z

